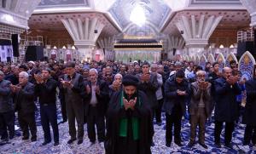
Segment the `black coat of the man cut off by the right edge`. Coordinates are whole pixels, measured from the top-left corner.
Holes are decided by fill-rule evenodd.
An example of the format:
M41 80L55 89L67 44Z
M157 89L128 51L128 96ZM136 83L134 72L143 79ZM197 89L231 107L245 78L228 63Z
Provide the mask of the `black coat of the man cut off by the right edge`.
M256 78L246 82L247 104L242 123L256 126Z

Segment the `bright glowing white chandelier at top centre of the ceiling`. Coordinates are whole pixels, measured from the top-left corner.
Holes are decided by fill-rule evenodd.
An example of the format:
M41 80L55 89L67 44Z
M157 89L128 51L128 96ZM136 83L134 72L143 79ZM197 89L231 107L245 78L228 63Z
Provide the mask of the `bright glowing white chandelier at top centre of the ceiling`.
M136 7L131 11L130 20L137 26L143 26L146 22L146 16L144 13L144 9L137 4Z

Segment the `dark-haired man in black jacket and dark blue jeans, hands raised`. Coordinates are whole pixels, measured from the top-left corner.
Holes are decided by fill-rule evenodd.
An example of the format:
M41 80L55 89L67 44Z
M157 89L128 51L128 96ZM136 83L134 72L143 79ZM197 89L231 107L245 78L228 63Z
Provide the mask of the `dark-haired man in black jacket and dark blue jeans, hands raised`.
M57 124L56 109L56 88L57 82L50 77L49 68L42 70L42 76L34 74L36 80L35 93L39 98L41 123L44 130L44 143L47 145L51 141L49 123L54 133L54 145L59 145L59 129Z

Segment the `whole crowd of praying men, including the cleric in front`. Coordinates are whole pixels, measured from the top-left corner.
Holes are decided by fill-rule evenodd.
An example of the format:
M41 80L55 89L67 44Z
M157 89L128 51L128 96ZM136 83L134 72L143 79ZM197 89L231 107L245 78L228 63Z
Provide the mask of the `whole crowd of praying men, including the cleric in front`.
M166 146L171 146L172 134L174 143L183 145L182 118L189 117L188 146L195 145L196 128L199 127L199 144L207 149L206 123L214 111L214 143L218 148L222 147L220 135L224 123L224 146L232 148L232 133L241 117L241 123L246 124L243 145L255 145L255 72L256 69L253 78L246 81L241 78L235 61L224 68L218 62L208 62L202 68L191 61L153 64L134 61L127 65L113 61L1 64L1 140L15 138L17 118L22 140L36 141L35 111L39 103L43 145L51 142L49 125L53 130L54 145L59 145L58 97L61 123L67 122L69 127L67 144L75 140L77 144L83 143L84 124L87 123L91 144L96 143L97 136L106 153L148 154L151 153L150 146L154 146L154 118L156 124L161 125L161 115L165 113Z

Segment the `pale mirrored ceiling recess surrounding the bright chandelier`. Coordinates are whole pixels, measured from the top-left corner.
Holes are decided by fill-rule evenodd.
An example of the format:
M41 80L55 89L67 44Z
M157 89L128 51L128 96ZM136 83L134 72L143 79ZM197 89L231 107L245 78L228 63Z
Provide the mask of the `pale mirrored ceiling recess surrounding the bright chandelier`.
M148 22L151 22L158 28L160 28L161 24L171 12L170 7L166 5L164 0L117 0L109 9L109 13L117 21L119 26L124 29L131 23L131 11L137 5L143 8Z

